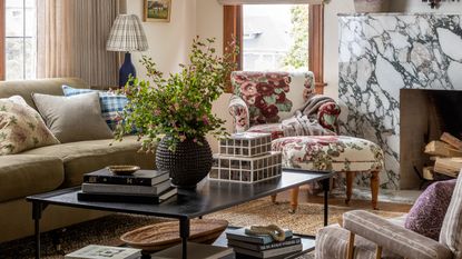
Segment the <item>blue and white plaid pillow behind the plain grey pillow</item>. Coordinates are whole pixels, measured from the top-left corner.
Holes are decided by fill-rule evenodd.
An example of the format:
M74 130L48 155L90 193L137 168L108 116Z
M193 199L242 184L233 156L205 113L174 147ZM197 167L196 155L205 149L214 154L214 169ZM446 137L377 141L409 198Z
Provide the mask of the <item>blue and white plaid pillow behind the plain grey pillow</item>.
M109 126L111 130L116 129L117 126L117 117L124 111L125 106L128 102L128 99L124 94L115 94L112 92L107 91L98 91L91 89L77 89L71 88L69 86L62 86L62 91L65 92L66 97L88 93L88 92L98 92L99 93L99 102L101 106L101 114L102 118L106 120L106 123Z

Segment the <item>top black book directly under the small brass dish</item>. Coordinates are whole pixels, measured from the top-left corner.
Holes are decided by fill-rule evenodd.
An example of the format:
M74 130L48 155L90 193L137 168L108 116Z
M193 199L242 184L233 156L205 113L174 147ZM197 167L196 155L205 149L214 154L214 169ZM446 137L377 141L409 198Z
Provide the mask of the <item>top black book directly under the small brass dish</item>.
M168 172L157 170L138 170L131 176L119 176L105 168L83 175L83 182L87 183L155 186L168 179L170 179Z

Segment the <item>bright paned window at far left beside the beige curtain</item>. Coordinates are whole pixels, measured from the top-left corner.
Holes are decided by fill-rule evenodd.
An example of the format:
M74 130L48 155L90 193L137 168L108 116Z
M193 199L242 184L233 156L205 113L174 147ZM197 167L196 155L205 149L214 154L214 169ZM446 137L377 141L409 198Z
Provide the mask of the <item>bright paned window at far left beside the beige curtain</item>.
M36 78L36 0L4 0L4 79Z

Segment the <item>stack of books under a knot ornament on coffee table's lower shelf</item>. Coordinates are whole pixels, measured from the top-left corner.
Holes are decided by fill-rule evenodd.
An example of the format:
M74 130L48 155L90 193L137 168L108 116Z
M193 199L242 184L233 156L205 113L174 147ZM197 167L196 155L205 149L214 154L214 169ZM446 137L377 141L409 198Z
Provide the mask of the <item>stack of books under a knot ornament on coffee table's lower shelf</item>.
M237 258L282 258L303 249L302 238L285 230L286 239L275 241L269 235L247 235L246 228L227 230L228 247Z

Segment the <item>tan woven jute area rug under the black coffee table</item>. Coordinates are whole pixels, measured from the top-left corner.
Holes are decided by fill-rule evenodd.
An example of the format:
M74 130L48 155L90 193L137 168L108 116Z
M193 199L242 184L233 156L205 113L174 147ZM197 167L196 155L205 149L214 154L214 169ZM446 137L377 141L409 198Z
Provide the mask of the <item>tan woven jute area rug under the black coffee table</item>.
M288 213L288 202L273 205L269 198L255 200L227 210L223 210L205 218L226 219L232 226L276 223L295 232L315 235L323 222L323 206L301 203L296 213ZM347 207L330 206L330 223L336 223L342 213L351 210ZM399 217L402 213L373 211L385 218ZM166 221L168 219L116 213L97 220L71 226L61 235L61 249L53 246L51 232L42 235L42 258L63 258L63 255L82 248L87 245L121 245L119 237L132 229ZM24 238L0 245L0 258L33 258L33 238ZM306 255L302 258L313 258Z

